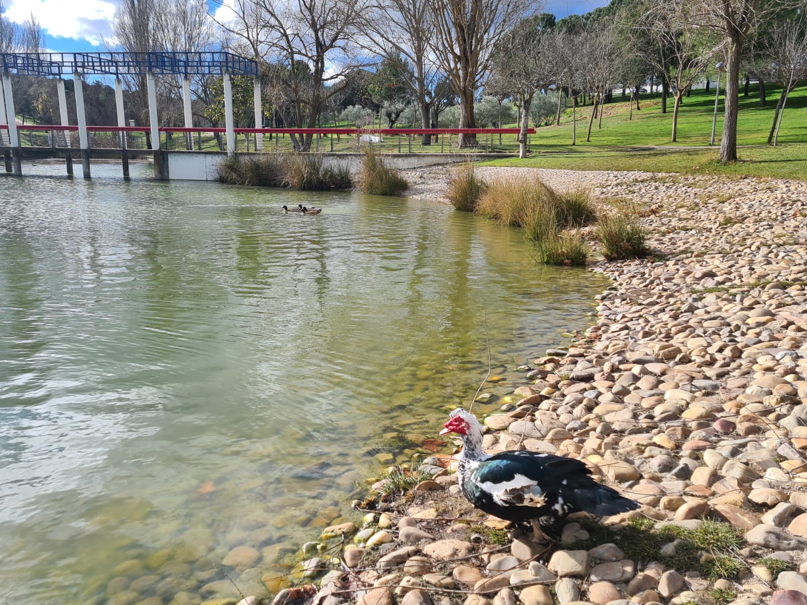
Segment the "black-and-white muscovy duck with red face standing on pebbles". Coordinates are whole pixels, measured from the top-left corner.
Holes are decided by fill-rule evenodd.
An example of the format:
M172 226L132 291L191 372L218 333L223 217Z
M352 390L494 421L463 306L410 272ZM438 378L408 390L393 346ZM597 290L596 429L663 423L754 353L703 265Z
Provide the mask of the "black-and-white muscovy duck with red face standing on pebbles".
M594 481L586 465L574 458L526 451L483 453L482 425L468 411L452 411L443 427L441 435L457 433L462 439L458 477L466 499L500 519L530 521L537 541L541 525L573 512L617 515L639 507Z

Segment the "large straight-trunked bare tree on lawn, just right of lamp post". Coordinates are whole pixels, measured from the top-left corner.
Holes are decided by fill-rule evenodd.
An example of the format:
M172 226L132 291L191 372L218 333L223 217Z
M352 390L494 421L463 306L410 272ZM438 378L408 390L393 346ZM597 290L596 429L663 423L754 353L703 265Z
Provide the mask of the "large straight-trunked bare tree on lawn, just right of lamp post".
M721 50L725 53L727 74L720 161L737 161L738 92L743 44L764 19L802 3L803 0L685 0L684 20L688 27L718 35Z

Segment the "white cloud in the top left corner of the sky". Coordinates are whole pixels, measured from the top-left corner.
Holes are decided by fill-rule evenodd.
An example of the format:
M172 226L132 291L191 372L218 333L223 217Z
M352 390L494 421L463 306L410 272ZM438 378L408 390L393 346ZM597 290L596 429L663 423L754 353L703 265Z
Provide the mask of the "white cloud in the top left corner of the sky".
M105 0L10 0L6 18L23 23L34 14L50 35L87 40L100 44L101 36L109 36L109 25L115 15L115 3Z

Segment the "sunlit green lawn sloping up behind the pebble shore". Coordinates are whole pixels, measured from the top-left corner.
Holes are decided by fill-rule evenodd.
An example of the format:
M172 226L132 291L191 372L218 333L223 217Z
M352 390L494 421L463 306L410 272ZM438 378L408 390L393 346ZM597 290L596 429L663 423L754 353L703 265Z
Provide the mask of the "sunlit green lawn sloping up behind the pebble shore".
M530 137L531 156L525 160L503 158L486 165L524 166L575 170L647 170L652 172L724 174L728 176L771 176L807 178L807 86L794 90L788 97L779 143L767 146L774 107L780 90L767 86L767 107L759 107L756 86L748 97L740 96L738 118L738 150L740 160L734 165L717 162L722 116L718 114L715 147L709 147L714 110L714 88L705 93L695 90L684 98L679 111L678 136L671 142L672 103L667 114L660 111L659 95L642 95L642 110L633 111L629 120L627 102L605 106L602 128L595 120L592 140L586 142L588 117L592 107L577 111L577 144L571 144L571 110L560 126L538 128ZM618 98L618 95L617 97ZM721 111L722 111L721 96ZM664 149L651 147L663 146ZM682 149L700 147L699 149Z

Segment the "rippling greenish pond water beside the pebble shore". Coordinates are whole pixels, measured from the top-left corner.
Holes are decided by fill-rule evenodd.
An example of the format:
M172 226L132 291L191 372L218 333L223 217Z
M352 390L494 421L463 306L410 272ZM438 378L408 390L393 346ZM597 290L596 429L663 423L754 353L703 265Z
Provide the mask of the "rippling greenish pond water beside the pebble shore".
M2 603L226 597L238 545L264 590L354 518L385 433L407 460L473 395L486 311L506 394L603 286L432 202L24 169L0 178Z

